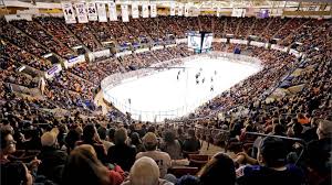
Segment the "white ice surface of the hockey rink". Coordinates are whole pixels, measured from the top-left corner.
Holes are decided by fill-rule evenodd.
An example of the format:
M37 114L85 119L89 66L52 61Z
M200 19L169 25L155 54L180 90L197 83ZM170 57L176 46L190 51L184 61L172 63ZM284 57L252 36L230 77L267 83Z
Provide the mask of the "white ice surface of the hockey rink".
M198 57L174 68L122 83L107 89L105 99L116 101L116 108L131 112L134 119L163 121L195 111L260 69L259 64Z

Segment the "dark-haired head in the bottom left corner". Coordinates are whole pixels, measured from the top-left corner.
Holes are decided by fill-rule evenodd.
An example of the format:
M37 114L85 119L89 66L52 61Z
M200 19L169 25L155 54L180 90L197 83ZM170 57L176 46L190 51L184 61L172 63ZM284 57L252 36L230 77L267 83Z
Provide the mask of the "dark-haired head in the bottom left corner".
M1 165L1 185L21 185L27 181L27 168L22 162Z

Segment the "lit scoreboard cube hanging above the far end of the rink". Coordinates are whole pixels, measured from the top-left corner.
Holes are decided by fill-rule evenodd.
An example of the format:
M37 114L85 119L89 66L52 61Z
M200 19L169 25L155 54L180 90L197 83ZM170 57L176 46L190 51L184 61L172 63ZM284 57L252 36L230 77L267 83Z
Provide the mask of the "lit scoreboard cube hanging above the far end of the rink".
M195 53L206 53L211 50L214 34L211 32L188 32L188 48Z

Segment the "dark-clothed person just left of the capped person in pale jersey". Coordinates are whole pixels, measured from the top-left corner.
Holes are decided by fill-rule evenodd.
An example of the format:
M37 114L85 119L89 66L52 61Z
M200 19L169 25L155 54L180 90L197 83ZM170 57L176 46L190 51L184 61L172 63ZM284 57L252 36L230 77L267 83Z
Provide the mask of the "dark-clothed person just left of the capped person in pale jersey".
M136 149L127 145L127 130L117 129L114 134L115 145L111 146L107 152L107 162L120 165L124 171L129 171L135 162Z

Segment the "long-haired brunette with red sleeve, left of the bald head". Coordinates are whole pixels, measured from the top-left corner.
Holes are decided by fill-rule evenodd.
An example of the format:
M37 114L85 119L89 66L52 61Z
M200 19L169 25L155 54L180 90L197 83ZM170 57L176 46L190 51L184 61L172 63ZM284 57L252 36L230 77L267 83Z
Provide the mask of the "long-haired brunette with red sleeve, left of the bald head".
M123 171L108 171L96 157L90 144L74 149L64 165L62 173L63 185L120 185L124 181Z

